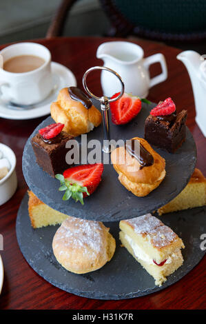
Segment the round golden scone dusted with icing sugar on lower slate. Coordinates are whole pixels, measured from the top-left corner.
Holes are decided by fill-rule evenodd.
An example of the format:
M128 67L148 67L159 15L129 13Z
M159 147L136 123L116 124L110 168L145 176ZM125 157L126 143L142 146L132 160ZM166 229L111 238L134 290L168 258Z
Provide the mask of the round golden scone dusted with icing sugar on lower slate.
M56 260L75 274L100 269L112 259L116 248L109 230L101 222L68 216L52 242Z

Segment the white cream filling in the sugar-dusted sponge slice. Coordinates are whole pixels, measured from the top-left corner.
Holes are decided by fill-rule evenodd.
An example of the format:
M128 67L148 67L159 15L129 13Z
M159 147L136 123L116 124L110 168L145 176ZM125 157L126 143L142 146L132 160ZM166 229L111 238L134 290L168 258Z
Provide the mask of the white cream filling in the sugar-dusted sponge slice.
M136 244L136 242L134 242L129 235L125 234L125 239L132 247L132 250L134 251L134 255L138 259L143 260L149 264L155 265L153 259L147 253L145 253L145 251L143 251L143 249L139 247L138 244ZM176 253L173 253L171 256L167 258L167 261L164 264L172 263L172 259L175 258L176 256L177 256Z

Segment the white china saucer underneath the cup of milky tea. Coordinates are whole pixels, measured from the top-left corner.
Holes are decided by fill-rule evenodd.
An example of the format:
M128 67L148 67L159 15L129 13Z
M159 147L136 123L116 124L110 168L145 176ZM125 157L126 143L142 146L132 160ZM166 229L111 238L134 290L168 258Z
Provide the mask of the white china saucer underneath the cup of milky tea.
M50 104L56 101L59 90L65 87L76 86L76 78L71 70L56 62L51 63L54 88L49 97L33 105L29 110L11 108L8 104L0 102L0 117L6 119L34 119L50 114Z

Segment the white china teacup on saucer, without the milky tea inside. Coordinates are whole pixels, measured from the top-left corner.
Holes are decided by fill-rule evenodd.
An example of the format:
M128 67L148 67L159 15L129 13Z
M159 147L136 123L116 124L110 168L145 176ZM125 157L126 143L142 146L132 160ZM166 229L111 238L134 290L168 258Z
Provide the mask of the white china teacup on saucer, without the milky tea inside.
M4 48L0 54L4 62L21 55L41 57L45 61L29 72L14 73L0 68L0 96L3 101L32 105L48 97L52 91L51 54L48 48L38 43L17 43Z

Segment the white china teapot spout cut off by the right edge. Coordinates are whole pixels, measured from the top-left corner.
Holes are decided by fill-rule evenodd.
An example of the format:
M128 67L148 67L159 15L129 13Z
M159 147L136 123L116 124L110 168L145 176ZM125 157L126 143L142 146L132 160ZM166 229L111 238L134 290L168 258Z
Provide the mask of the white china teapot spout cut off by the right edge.
M194 50L178 54L177 59L185 64L189 73L196 107L196 123L206 136L206 61L204 56L200 56Z

